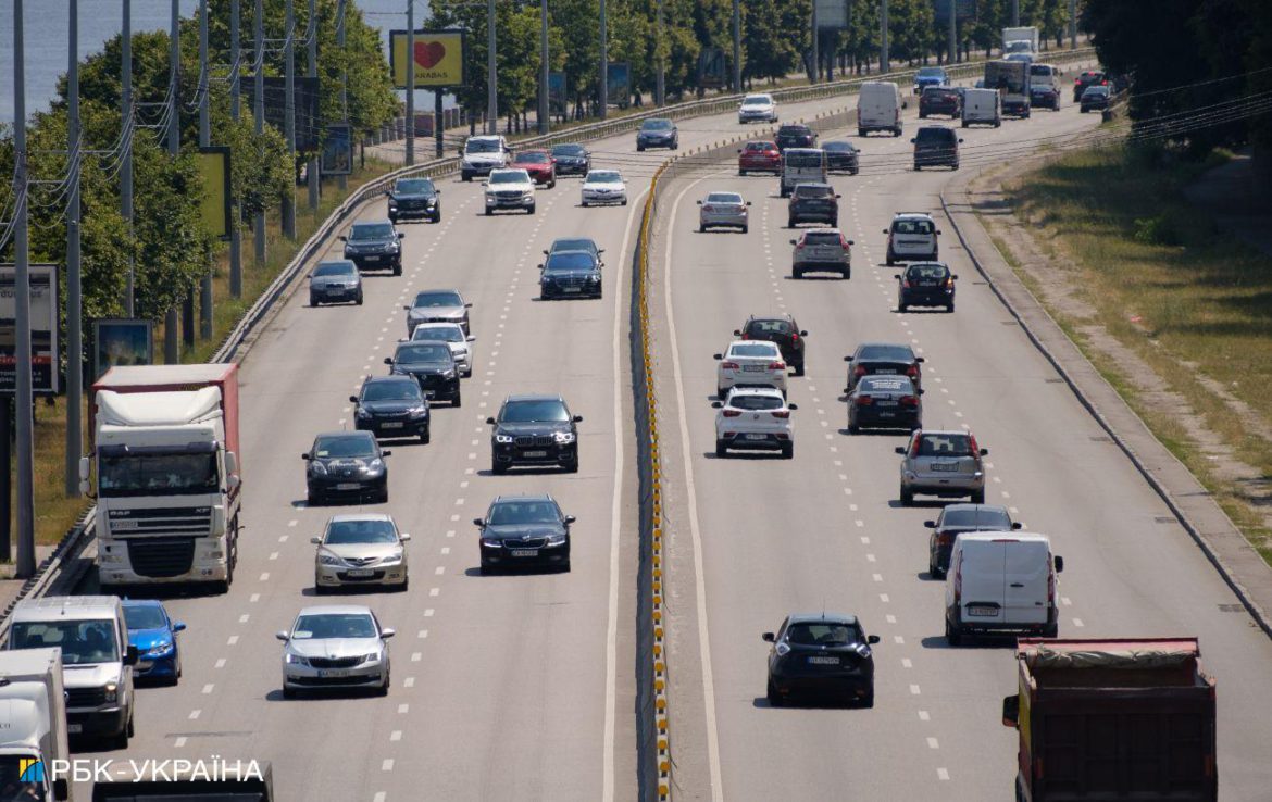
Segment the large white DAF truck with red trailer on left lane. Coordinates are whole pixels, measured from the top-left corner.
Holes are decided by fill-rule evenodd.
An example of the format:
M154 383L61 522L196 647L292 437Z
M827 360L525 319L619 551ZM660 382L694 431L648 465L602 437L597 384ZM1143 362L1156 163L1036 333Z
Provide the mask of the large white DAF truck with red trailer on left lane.
M242 498L238 366L112 367L93 385L90 413L79 473L97 496L102 588L228 590Z

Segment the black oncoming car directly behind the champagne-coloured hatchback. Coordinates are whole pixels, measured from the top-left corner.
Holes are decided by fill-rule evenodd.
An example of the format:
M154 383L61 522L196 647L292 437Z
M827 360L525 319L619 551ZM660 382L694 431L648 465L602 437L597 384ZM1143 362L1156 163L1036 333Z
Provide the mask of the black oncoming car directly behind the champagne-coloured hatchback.
M305 500L309 506L331 501L384 503L389 500L389 469L371 432L328 432L314 438L300 455L305 461Z

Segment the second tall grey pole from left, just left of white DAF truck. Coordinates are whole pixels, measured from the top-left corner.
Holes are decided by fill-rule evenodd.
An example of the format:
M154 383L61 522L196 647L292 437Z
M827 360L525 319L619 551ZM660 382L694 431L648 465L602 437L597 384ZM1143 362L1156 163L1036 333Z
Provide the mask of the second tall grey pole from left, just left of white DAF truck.
M70 198L66 202L66 496L79 498L79 458L83 454L84 423L84 332L80 325L80 125L79 125L79 0L70 0L70 42L66 60L66 141L71 165ZM55 301L56 302L56 299ZM5 399L8 400L8 399ZM9 436L5 430L3 437ZM9 464L5 463L5 470Z

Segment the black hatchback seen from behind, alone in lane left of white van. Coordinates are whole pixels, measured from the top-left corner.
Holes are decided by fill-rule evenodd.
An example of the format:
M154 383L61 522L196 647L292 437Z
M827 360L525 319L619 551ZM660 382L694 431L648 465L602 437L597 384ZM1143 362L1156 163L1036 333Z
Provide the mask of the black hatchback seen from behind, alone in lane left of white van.
M768 704L799 697L836 697L874 707L874 655L879 635L866 635L855 615L790 615L776 634L766 632Z

